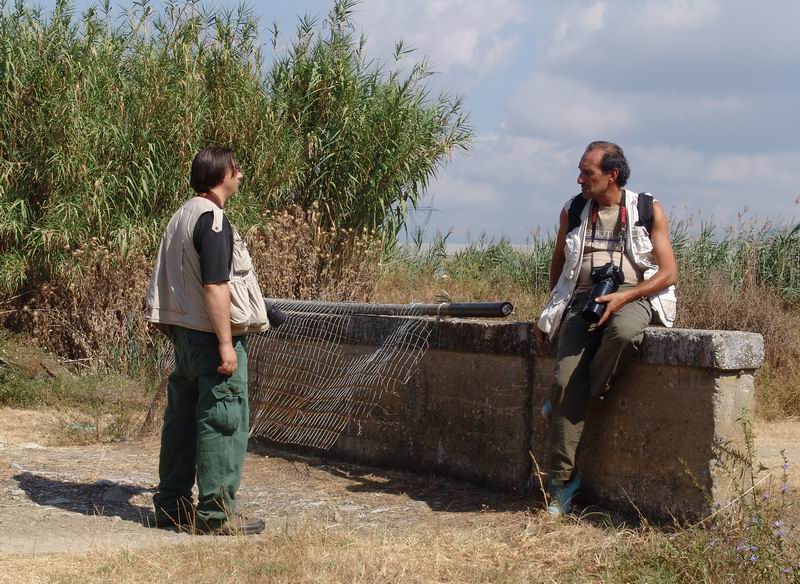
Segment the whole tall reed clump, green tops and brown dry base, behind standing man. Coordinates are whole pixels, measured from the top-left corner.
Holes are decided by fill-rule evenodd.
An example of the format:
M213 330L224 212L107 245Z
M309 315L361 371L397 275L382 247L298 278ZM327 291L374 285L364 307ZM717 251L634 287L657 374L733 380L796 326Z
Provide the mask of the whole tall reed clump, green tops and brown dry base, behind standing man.
M108 1L77 15L0 0L6 324L90 370L156 371L144 287L210 143L238 152L227 210L267 295L368 297L375 246L471 131L424 63L401 73L402 44L387 66L367 57L353 5L300 19L285 49L273 26L268 53L245 6L140 0L116 18Z

